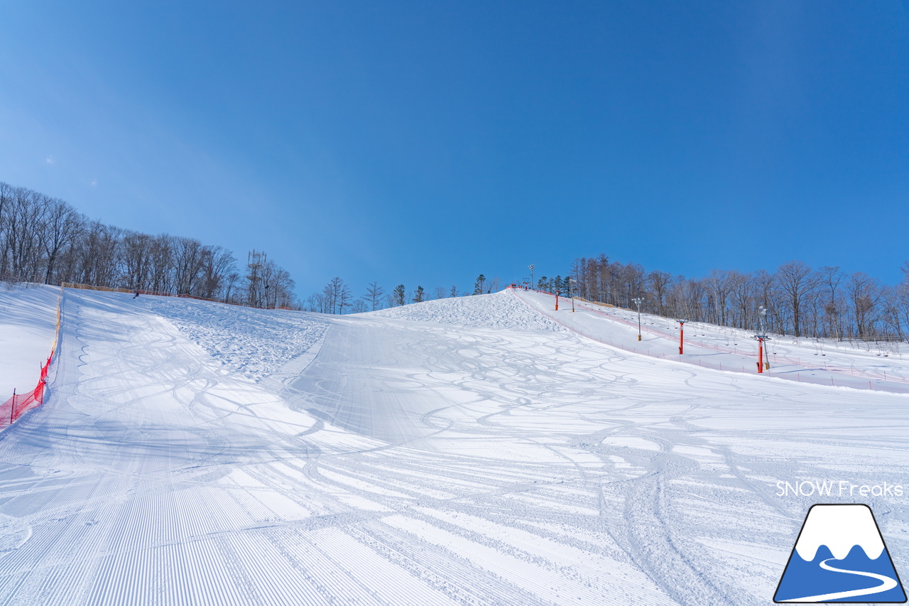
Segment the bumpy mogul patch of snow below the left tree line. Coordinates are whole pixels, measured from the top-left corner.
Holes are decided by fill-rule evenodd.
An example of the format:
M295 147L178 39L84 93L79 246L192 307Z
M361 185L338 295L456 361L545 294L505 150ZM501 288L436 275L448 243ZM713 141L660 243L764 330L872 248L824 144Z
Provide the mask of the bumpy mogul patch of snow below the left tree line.
M145 297L150 311L228 369L261 381L319 343L328 321L318 314L252 309L181 298Z

